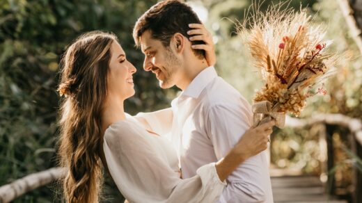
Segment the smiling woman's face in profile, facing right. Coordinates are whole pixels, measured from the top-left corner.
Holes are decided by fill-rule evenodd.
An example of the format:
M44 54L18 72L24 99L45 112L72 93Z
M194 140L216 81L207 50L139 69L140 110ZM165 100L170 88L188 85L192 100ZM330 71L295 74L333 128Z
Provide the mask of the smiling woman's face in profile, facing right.
M109 74L107 88L109 95L118 95L127 99L134 95L134 83L132 75L136 68L129 63L125 51L118 42L111 44L111 60L109 61Z

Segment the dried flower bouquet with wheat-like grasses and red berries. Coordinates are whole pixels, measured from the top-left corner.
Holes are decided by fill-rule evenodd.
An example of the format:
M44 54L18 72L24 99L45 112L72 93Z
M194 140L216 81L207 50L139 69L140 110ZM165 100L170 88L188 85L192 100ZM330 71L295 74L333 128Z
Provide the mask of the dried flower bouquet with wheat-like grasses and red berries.
M328 52L331 41L324 39L325 29L316 26L306 10L273 6L267 13L256 11L244 25L239 34L246 39L265 82L253 98L254 126L274 118L282 128L285 113L301 113L306 98L315 95L312 86L324 79L341 56Z

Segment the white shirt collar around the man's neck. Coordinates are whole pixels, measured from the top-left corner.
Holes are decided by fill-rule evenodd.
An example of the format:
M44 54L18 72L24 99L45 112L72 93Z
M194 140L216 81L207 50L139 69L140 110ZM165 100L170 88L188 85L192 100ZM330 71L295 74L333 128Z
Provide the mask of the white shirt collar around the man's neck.
M207 84L216 77L217 71L213 66L205 68L191 81L189 86L182 92L180 96L197 98L203 89L205 89Z

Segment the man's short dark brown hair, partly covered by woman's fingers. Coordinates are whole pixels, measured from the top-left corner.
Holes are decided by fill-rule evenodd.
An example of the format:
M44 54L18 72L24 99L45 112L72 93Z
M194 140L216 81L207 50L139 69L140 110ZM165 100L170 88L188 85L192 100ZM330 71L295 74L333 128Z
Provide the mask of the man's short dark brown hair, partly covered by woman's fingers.
M175 33L189 38L189 24L201 24L200 19L190 6L177 0L161 1L152 6L136 22L133 38L136 46L140 46L140 37L145 31L150 31L152 38L160 40L165 47L170 46L170 40ZM192 44L205 44L203 41L191 41ZM205 51L192 49L196 56L205 57Z

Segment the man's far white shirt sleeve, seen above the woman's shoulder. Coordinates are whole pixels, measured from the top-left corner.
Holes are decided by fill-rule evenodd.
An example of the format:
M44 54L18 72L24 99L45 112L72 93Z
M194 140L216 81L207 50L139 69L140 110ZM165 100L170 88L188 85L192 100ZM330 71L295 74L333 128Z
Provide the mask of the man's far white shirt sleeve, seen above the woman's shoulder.
M171 132L173 122L172 108L165 108L150 113L137 113L134 118L143 125L145 129L153 131L161 136Z

